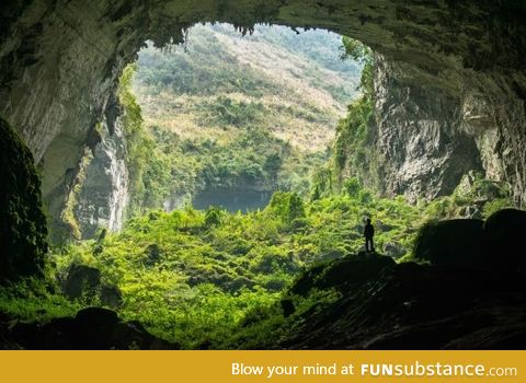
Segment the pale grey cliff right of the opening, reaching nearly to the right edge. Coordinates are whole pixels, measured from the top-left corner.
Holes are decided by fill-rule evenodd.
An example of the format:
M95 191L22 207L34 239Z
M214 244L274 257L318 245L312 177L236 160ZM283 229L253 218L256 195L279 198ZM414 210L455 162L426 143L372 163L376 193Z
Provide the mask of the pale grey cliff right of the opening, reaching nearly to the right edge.
M524 195L513 181L521 174L506 169L502 152L506 140L519 141L521 135L507 137L495 105L480 90L449 93L430 84L407 84L401 73L403 65L377 56L374 149L385 166L382 192L433 199L449 195L464 174L478 171L513 184L521 204Z

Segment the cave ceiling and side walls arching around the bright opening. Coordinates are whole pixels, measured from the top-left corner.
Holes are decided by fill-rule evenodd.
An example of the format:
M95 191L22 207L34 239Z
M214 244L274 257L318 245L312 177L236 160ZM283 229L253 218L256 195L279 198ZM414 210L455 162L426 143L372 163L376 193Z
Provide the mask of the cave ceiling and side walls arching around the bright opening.
M8 0L0 10L0 143L10 150L1 153L2 277L42 269L47 228L64 229L81 160L101 142L100 124L111 130L118 116L124 68L146 40L182 42L196 23L241 34L256 23L323 28L363 42L375 51L386 196L433 199L479 169L510 185L516 207L526 204L521 1Z

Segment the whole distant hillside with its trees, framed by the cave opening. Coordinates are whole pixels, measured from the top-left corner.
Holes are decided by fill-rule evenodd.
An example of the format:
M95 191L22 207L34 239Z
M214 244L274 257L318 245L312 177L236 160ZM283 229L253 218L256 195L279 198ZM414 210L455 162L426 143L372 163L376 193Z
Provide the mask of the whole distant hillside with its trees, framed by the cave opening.
M127 162L141 169L130 170L130 185L141 186L130 190L133 210L249 211L276 190L308 198L339 119L361 95L363 63L344 50L338 34L277 25L243 36L203 24L179 45L147 42L121 81L125 114L140 107L140 121L125 117L123 129L144 129L124 135Z

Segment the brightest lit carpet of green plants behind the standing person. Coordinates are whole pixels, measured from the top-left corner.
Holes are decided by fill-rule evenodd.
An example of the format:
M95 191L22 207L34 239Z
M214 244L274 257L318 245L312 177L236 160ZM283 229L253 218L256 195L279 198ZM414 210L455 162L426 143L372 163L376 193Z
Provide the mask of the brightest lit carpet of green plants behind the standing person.
M248 315L279 300L302 268L358 251L368 214L384 228L379 248L395 241L409 247L419 211L407 204L371 197L364 206L345 195L305 204L276 193L266 209L247 214L150 211L119 234L57 255L58 272L73 262L95 266L123 291L124 318L185 348L217 348L233 341Z

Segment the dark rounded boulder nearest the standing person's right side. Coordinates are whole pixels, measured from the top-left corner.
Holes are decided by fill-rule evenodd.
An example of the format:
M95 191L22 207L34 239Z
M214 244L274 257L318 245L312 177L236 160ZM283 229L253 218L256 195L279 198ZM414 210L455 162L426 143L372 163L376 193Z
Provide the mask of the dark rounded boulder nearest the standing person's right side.
M483 221L454 219L426 223L416 239L414 256L437 266L488 267Z

